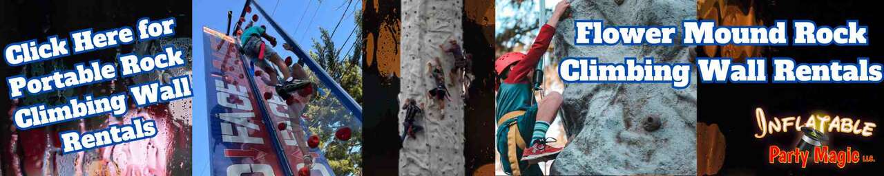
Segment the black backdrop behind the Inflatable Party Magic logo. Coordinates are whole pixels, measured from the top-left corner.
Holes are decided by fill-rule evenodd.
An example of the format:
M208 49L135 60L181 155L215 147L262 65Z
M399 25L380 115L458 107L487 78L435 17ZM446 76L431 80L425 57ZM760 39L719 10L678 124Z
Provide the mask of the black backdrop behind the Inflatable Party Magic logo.
M750 3L740 2L744 6ZM756 1L756 10L764 24L774 19L810 19L817 26L844 26L847 19L858 19L860 26L869 26L869 46L865 47L766 47L762 55L767 58L767 74L773 74L771 57L791 57L799 63L820 63L841 60L855 63L857 57L869 57L871 62L884 62L884 41L875 40L884 33L881 23L882 10L874 1ZM789 21L788 35L793 33ZM789 42L792 39L789 37ZM697 49L699 56L705 56ZM771 77L768 77L771 80ZM863 137L841 132L827 133L829 150L858 150L860 155L873 155L876 163L848 164L838 168L832 164L814 164L809 159L807 169L796 164L768 164L768 147L776 145L781 150L795 146L798 133L768 134L756 139L760 133L755 120L755 108L765 110L768 121L773 117L801 116L802 124L811 114L825 112L850 119L875 122L880 126L884 120L881 102L884 99L882 84L700 84L697 91L697 121L718 124L727 140L727 149L721 175L870 175L881 171L882 155L880 127L874 128L873 136ZM880 173L879 173L880 174Z

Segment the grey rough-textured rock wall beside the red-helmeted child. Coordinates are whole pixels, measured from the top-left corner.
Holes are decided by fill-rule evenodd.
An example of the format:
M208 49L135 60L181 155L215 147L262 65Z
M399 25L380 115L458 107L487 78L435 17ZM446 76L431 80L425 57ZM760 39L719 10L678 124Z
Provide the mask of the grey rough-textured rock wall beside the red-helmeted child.
M696 19L687 0L575 0L572 18L557 26L554 58L654 57L654 62L694 62L681 46L683 19ZM574 19L603 19L606 26L679 26L674 46L574 46ZM680 174L697 172L697 72L682 90L671 84L568 84L563 93L568 145L552 174Z

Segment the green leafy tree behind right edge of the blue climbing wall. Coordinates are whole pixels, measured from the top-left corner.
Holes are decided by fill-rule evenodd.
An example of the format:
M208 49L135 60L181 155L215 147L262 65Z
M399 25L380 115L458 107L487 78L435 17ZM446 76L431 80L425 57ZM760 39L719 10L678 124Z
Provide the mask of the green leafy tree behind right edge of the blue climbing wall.
M361 20L356 11L356 23ZM328 30L320 27L322 33L318 40L313 40L313 49L309 52L320 67L334 79L357 103L362 105L362 67L359 64L362 58L361 26L356 26L353 44L353 53L347 53L348 48L337 48ZM351 34L351 33L344 33ZM349 47L349 46L347 46ZM344 53L340 53L344 52ZM342 55L343 54L343 55ZM313 74L312 71L308 71ZM316 77L311 76L311 81L319 83ZM320 149L328 159L331 170L336 175L359 175L362 172L362 122L355 119L350 112L340 104L324 85L319 86L320 93L311 100L304 114L309 118L307 125L312 134L319 136ZM350 140L340 141L335 138L335 132L339 128L349 127L353 129Z

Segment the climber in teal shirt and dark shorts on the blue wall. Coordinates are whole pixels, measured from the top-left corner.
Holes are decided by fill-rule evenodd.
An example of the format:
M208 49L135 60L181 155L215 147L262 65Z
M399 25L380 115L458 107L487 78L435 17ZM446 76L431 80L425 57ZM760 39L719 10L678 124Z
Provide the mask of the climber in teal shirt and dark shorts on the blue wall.
M276 38L265 33L266 31L267 29L264 26L249 26L246 28L240 36L243 52L249 59L255 62L255 66L264 70L264 72L271 77L269 84L277 85L277 93L283 97L283 99L288 99L288 92L301 90L310 85L310 82L305 80L307 78L307 73L301 69L300 64L295 64L296 62L293 61L284 62L282 58L273 51L272 47L267 47L266 44L264 44L264 41L261 40L261 38L269 41L273 47L276 47L277 44ZM283 48L286 48L287 50L292 49L288 44L283 44ZM274 70L271 65L276 65L278 71ZM283 76L281 79L278 77L278 74L280 73ZM285 83L280 84L279 80L285 80Z

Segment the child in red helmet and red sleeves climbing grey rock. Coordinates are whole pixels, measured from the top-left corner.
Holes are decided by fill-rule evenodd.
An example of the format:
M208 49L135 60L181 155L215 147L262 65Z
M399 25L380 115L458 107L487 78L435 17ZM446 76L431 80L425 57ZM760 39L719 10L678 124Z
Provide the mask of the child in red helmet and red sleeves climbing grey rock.
M545 137L546 129L561 105L561 94L550 92L539 104L531 102L531 80L534 67L549 47L555 26L568 7L568 1L556 4L552 17L540 28L527 55L507 53L494 62L494 70L499 75L495 112L495 120L498 121L497 148L504 172L541 175L537 162L555 158L561 150L547 145L555 142L555 139Z

